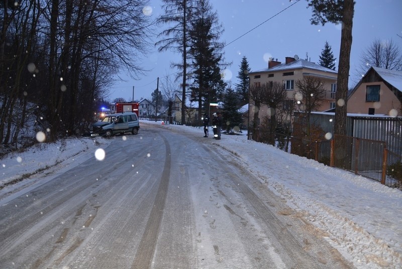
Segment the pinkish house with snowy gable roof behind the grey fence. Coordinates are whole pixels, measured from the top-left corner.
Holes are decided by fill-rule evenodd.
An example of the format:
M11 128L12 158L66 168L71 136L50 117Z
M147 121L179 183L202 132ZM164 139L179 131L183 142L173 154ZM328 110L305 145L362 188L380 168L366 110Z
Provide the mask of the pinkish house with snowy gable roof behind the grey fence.
M402 116L402 71L370 67L348 97L348 113Z

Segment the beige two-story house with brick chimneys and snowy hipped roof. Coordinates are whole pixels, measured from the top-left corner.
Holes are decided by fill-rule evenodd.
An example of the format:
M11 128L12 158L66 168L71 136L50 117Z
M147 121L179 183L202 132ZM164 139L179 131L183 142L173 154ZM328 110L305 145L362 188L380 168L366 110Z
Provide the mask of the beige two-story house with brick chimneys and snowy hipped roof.
M286 57L284 63L279 62L277 59L271 59L268 62L268 68L249 73L250 86L280 82L286 89L287 98L289 100L294 100L295 94L298 91L295 81L298 79L302 80L306 76L320 78L324 83L324 88L327 89L326 98L321 103L319 111L334 108L338 72L333 69L300 59L295 55L294 57ZM250 111L253 110L253 101L250 100ZM268 111L266 106L261 106L259 108L258 121L262 119L262 117L267 116ZM253 117L251 114L250 116Z

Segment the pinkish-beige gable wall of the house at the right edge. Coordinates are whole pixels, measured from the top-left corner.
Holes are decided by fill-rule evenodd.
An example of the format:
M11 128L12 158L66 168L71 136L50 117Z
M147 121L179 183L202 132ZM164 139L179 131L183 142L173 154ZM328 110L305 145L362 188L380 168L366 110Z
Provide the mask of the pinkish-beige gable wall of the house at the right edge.
M380 85L379 102L366 101L367 85ZM398 112L398 116L402 116L400 113L400 101L382 81L360 84L348 99L348 113L368 114L369 108L373 108L375 114L383 115L389 115L389 111L395 109Z

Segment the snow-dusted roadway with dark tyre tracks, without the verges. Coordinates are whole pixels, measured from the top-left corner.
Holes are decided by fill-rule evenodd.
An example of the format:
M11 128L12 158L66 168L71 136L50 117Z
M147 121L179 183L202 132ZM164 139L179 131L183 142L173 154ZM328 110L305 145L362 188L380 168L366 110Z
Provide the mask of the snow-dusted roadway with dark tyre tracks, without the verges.
M352 267L212 138L144 124L110 140L2 203L2 267Z

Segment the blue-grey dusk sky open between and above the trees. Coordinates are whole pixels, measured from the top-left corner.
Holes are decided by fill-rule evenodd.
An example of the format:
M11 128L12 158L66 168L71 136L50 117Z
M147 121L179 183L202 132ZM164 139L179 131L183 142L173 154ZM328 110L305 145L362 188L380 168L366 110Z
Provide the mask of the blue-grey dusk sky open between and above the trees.
M402 50L402 38L397 36L402 36L400 14L402 1L355 1L349 81L353 78L356 66L360 63L361 54L374 39L392 39ZM297 54L299 58L306 59L308 57L308 60L318 63L325 42L328 41L334 57L336 60L339 58L341 26L331 23L325 26L311 25L312 10L307 8L306 0L298 2L288 0L210 0L210 3L218 12L220 22L224 27L221 41L228 44L224 49L224 57L227 62L232 62L225 72L225 77L233 83L238 82L236 76L243 56L247 57L252 71L266 68L269 57L284 62L285 57L293 57ZM160 0L150 1L153 18L162 13L161 4ZM284 9L286 10L283 11ZM281 13L275 16L279 12ZM269 18L271 19L268 20ZM266 20L268 21L263 23ZM263 24L260 25L261 23ZM260 26L252 30L258 25ZM250 30L252 31L249 32ZM244 35L245 33L247 34ZM234 42L231 43L232 41ZM122 97L126 101L131 101L133 86L134 100L149 99L157 86L157 77L159 77L160 86L163 77L175 72L170 68L172 61L180 61L180 55L173 52L158 53L157 48L154 48L154 52L143 60L144 67L152 69L152 71L143 76L141 80L134 80L122 73L121 76L126 81L118 81L111 87L110 99ZM338 65L336 70L338 70ZM351 85L350 82L349 85Z

